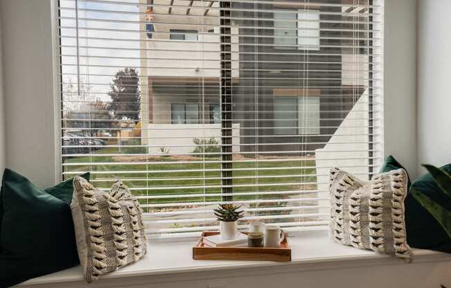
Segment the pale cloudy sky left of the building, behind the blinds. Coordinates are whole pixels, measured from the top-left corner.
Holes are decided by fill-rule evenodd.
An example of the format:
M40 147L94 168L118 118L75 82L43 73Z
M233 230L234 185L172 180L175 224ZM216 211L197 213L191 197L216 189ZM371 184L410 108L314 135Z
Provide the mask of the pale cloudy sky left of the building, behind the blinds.
M111 1L109 1L111 2ZM98 3L89 1L78 1L79 17L79 53L80 53L80 74L85 90L89 90L89 100L109 101L107 95L113 76L120 67L140 66L140 33L138 0L125 1L131 5L121 5L120 3ZM98 12L89 10L110 10L120 12L132 12L130 14L120 12ZM75 30L75 0L62 0L60 2L61 12L61 44L62 44L62 73L63 86L72 86L74 99L77 87L77 45ZM102 19L106 21L94 21L89 19ZM122 21L122 22L118 22ZM135 23L124 23L123 21L135 21ZM65 28L67 27L67 28ZM86 29L87 28L87 29ZM90 30L93 28L112 30ZM127 32L114 31L116 29L129 30ZM103 39L91 39L103 38ZM107 39L105 39L107 38ZM85 48L88 46L89 48ZM93 48L94 47L94 48ZM100 47L100 48L95 48ZM109 47L109 48L107 48ZM135 49L135 50L126 50ZM116 57L116 58L114 58ZM117 59L117 57L129 57L128 59ZM131 59L136 58L136 59ZM113 67L101 67L113 66ZM120 67L119 67L120 66ZM139 69L138 69L139 71ZM89 77L82 74L89 74ZM103 76L104 75L104 76ZM70 85L68 83L73 83ZM66 85L65 85L66 84ZM89 87L89 89L88 89ZM75 107L75 106L73 106Z

